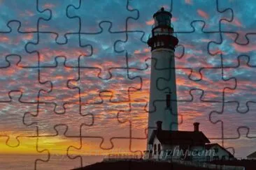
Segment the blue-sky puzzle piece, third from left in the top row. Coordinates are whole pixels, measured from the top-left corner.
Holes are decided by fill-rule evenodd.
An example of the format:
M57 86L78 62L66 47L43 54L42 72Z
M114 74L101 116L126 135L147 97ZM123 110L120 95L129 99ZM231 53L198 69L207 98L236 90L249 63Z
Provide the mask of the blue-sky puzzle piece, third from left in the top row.
M79 30L82 33L99 32L99 24L103 21L113 24L112 31L127 31L127 21L138 19L138 11L128 8L129 0L113 0L111 2L76 0L76 3L79 3L79 5L71 5L67 8L67 16L71 20L79 21ZM88 15L95 13L95 10L97 10L97 15ZM108 13L110 11L111 13Z

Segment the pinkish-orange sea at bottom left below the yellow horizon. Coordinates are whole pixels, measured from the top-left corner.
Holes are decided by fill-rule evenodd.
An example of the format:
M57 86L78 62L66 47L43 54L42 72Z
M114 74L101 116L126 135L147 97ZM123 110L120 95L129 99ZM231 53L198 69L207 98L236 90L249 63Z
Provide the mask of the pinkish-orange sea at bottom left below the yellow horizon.
M30 170L30 169L73 169L80 167L80 159L70 160L66 155L52 155L49 162L38 161L43 159L45 155L0 155L0 169L8 170ZM96 162L101 162L104 156L83 156L83 167ZM36 164L36 167L35 167Z

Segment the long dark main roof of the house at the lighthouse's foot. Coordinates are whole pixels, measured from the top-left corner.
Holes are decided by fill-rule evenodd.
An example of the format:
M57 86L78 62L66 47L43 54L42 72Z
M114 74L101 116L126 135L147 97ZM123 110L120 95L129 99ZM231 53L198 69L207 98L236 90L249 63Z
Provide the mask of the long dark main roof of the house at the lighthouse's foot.
M149 144L153 144L153 141L157 139L161 144L206 144L210 143L208 138L204 135L203 132L196 131L171 131L171 130L153 130Z

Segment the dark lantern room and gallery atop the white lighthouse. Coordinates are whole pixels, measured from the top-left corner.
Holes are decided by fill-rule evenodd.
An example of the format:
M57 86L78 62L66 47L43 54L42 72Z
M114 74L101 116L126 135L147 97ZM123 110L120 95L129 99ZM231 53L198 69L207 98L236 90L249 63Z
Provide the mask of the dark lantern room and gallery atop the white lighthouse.
M155 24L152 29L152 36L148 39L148 45L151 47L151 51L159 48L167 48L174 51L176 45L178 45L178 38L173 36L171 13L161 8L153 17Z

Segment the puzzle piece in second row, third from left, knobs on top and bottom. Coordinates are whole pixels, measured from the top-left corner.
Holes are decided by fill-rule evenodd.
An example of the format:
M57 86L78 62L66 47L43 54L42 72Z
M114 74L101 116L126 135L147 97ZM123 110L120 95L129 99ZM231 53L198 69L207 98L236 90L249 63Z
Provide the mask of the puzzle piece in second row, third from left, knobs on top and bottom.
M80 60L80 67L101 69L101 79L111 79L112 68L127 68L127 57L115 51L115 42L125 41L127 33L111 31L111 22L101 22L101 31L80 33L81 45L92 45L93 54ZM108 30L108 31L106 31Z

